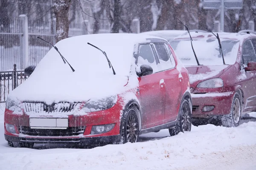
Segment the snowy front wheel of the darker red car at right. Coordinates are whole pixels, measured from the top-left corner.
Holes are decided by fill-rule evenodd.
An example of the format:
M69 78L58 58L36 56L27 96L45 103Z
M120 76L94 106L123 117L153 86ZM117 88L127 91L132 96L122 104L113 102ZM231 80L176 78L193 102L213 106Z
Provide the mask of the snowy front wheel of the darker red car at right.
M241 98L238 93L234 95L230 113L221 116L221 123L224 127L236 127L241 120Z

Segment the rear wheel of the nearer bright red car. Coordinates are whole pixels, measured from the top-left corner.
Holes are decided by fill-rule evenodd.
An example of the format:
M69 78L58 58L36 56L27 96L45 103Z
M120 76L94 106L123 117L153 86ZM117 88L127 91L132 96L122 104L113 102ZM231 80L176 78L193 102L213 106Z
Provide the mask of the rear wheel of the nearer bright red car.
M178 122L175 127L169 128L169 133L171 136L175 136L180 132L191 131L191 126L192 117L189 102L183 99L178 113Z

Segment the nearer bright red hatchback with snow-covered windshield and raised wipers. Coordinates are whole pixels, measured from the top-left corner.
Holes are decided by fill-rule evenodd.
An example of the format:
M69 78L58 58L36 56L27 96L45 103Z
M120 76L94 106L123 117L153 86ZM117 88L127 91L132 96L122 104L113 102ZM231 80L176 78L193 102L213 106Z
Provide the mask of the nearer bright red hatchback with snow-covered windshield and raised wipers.
M188 71L165 39L71 37L25 71L32 74L6 102L10 146L137 142L165 128L171 135L191 130Z

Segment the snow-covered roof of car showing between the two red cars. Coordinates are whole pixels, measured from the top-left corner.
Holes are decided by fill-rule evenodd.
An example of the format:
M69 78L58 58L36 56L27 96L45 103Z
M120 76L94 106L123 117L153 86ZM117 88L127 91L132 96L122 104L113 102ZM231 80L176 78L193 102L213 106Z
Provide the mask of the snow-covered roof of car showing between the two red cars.
M157 31L146 31L140 34L147 34L147 35L162 37L170 42L171 40L175 39L175 37L184 33L186 33L185 30L157 30Z

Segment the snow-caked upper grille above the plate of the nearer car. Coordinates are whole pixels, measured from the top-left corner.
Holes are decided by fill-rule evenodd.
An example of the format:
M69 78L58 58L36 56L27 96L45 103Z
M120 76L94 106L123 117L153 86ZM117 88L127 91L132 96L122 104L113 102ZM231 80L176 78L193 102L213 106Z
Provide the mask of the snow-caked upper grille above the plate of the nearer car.
M51 105L47 105L45 103L32 103L32 102L23 102L23 109L25 112L70 112L80 106L80 103L52 103Z

